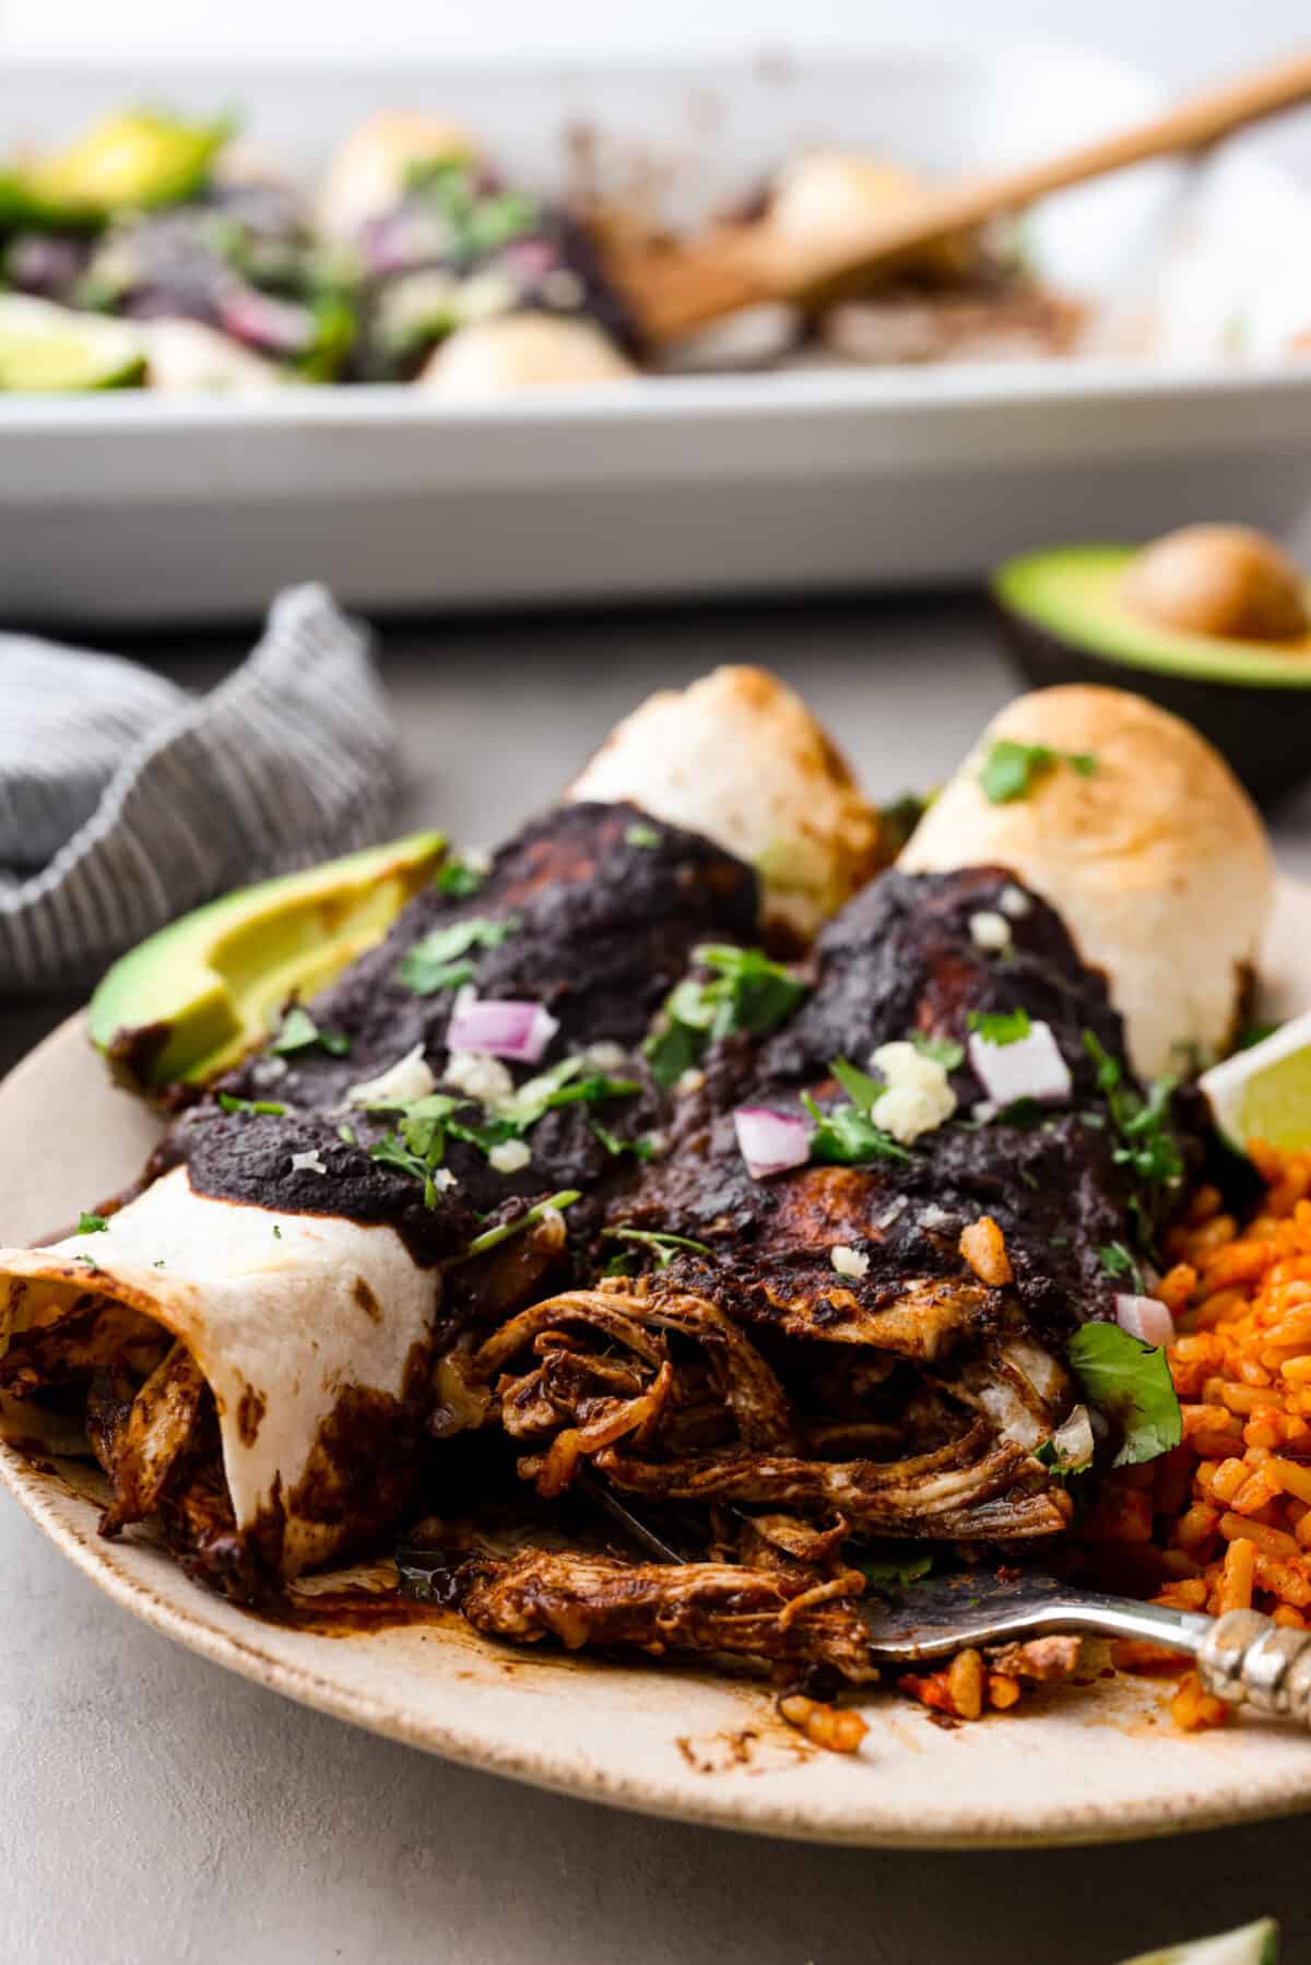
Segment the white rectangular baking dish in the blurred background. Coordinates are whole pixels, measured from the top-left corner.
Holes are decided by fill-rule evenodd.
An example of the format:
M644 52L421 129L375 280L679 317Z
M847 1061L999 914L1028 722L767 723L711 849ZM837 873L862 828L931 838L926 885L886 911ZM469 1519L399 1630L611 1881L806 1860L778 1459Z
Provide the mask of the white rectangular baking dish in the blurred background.
M586 126L611 179L656 159L682 214L804 143L959 173L1156 102L1140 77L1065 51L696 73L10 63L0 128L49 141L140 96L238 102L307 173L379 102L448 110L546 185ZM1050 200L1034 257L1097 303L1095 360L643 379L468 409L393 387L0 399L0 609L222 617L303 576L371 609L904 586L1197 517L1287 533L1311 499L1311 362L1280 354L1311 326L1311 255L1287 250L1307 218L1246 143ZM1120 352L1144 326L1156 356Z

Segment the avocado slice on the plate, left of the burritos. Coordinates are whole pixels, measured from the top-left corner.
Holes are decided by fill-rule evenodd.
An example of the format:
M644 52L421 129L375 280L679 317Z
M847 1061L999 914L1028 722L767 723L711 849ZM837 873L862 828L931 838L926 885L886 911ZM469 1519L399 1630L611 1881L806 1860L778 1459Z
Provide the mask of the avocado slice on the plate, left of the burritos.
M385 847L238 888L161 927L90 998L90 1039L130 1091L202 1085L387 933L428 884L446 839Z

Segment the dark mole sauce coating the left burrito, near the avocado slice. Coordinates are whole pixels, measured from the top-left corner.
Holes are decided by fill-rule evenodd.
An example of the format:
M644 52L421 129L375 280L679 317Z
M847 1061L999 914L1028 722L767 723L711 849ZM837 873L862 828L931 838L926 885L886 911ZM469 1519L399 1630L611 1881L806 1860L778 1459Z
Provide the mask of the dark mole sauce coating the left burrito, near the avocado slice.
M592 1043L617 1043L629 1059L615 1075L637 1079L641 1091L599 1108L548 1110L529 1134L531 1163L509 1175L482 1148L448 1138L442 1165L456 1185L428 1208L417 1179L371 1157L395 1118L350 1106L348 1095L415 1045L438 1091L460 1091L440 1081L456 988L419 994L399 977L427 935L460 922L513 924L495 947L464 955L478 996L539 1002L560 1024L535 1065L511 1067L515 1083ZM582 1189L570 1226L586 1230L599 1222L605 1197L635 1177L633 1157L609 1151L592 1120L635 1140L666 1114L639 1053L651 1018L700 941L757 935L757 880L733 855L635 806L554 808L499 849L476 894L421 894L379 947L314 998L316 1026L348 1039L344 1055L263 1051L214 1089L285 1112L224 1112L216 1096L204 1098L173 1126L149 1173L185 1161L191 1185L216 1201L389 1222L421 1263L448 1262L482 1228L564 1187ZM293 1165L305 1153L316 1163Z

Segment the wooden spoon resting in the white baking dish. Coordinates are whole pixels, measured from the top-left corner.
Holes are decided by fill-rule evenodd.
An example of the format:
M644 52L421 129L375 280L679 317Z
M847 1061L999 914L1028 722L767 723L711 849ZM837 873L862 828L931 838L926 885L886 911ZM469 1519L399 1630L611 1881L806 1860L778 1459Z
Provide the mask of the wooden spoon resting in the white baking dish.
M1083 185L1128 163L1199 149L1246 124L1311 98L1311 55L1291 55L1258 75L1193 96L1164 116L1099 138L1079 149L981 177L922 202L871 212L812 242L780 238L769 218L717 224L690 240L653 240L615 214L594 232L605 269L645 338L658 346L765 301L816 305L857 293L871 275L894 271L926 246L969 232L1000 212L1018 212L1050 191Z

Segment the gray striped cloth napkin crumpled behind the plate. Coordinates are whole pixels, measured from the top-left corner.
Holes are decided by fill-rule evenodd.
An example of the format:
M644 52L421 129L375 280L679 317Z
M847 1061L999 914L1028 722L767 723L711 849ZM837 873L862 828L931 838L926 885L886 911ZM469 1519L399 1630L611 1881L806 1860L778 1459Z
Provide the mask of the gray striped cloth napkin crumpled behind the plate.
M368 631L324 588L199 700L0 635L0 992L81 988L226 888L370 845L397 792Z

